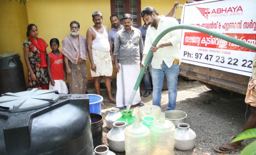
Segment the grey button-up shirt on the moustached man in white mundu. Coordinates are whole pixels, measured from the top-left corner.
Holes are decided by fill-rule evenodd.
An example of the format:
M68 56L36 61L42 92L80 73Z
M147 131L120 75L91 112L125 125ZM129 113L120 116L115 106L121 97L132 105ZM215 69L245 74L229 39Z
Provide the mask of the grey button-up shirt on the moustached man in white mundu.
M115 34L114 55L119 55L120 64L139 64L143 52L141 31L132 27L128 33L124 28Z

